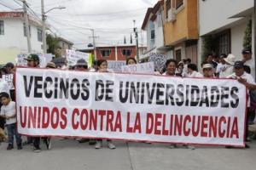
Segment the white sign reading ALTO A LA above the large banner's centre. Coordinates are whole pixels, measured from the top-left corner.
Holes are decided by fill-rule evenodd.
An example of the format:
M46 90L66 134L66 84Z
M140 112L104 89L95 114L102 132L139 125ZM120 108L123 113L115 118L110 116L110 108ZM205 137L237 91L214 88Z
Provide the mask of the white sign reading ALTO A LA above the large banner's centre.
M154 63L148 62L137 65L124 65L122 66L124 73L139 73L139 74L154 74Z

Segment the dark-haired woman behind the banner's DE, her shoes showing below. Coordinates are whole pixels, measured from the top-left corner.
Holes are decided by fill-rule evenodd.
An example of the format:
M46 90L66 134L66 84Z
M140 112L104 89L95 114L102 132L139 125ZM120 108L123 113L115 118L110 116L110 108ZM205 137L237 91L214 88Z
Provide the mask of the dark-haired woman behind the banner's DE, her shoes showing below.
M106 59L99 59L97 61L97 65L99 68L99 72L108 72L108 61ZM108 139L108 148L110 150L115 149L115 145L112 143L112 140ZM97 139L95 144L95 149L101 149L102 148L102 139Z

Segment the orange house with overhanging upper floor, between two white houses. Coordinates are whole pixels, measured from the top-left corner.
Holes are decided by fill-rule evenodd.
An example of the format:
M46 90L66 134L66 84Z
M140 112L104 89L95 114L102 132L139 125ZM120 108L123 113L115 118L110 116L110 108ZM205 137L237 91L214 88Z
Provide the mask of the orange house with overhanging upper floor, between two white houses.
M164 1L164 40L166 47L173 48L174 59L192 59L198 55L198 1Z

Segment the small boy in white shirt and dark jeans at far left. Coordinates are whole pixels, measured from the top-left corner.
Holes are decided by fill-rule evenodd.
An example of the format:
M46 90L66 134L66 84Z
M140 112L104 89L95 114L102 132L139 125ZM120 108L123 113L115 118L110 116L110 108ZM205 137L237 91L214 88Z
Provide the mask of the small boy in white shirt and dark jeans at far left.
M22 140L20 135L17 132L17 123L16 123L16 111L15 111L15 102L11 101L9 94L3 92L0 94L1 103L3 104L1 108L0 116L6 119L6 127L8 130L9 144L7 150L14 149L14 136L16 139L17 149L22 149Z

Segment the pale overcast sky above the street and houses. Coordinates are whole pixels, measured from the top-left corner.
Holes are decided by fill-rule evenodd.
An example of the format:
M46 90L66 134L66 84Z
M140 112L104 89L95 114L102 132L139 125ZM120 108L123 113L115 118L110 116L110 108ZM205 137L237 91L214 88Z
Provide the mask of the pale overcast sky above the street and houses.
M51 30L58 36L67 38L75 48L86 48L92 42L91 31L96 31L97 44L117 44L130 42L133 31L133 20L141 31L144 16L148 7L153 7L158 0L44 0L45 11L50 8L65 6L49 12L47 21ZM20 0L0 0L9 8L21 8ZM27 0L29 6L41 14L41 0ZM21 4L21 3L20 3ZM0 5L1 10L10 10ZM134 37L134 35L133 35ZM142 41L143 40L143 41ZM146 37L140 37L140 43Z

